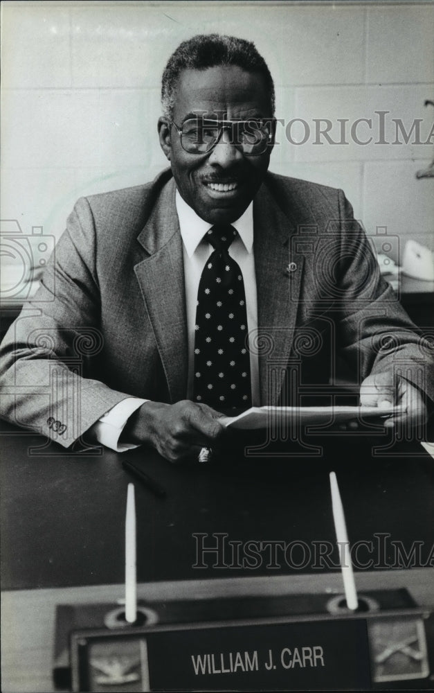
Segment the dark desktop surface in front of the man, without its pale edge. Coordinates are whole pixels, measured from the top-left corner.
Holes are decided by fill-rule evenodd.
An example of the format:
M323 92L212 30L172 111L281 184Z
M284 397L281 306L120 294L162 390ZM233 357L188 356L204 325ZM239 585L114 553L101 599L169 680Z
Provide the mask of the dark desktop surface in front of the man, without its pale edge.
M269 574L265 550L254 569L237 567L230 541L296 542L297 558L280 555L273 572L315 572L316 543L335 540L331 469L350 541L373 541L378 568L393 563L392 541L407 552L413 541L422 542L422 565L433 545L433 459L418 443L388 448L390 437L318 435L309 439L323 446L314 457L226 454L207 466L172 465L141 448L123 455L68 455L8 425L1 441L3 590L123 581L125 502L132 481L121 466L125 456L141 462L167 491L166 498L157 498L135 482L141 582ZM374 441L383 447L372 457ZM287 450L307 455L290 444ZM219 540L219 567L213 567L215 555L206 556L206 568L194 567L199 534L206 535L207 546L216 545L213 534L227 534ZM307 558L300 553L303 545ZM332 559L338 565L337 550Z

